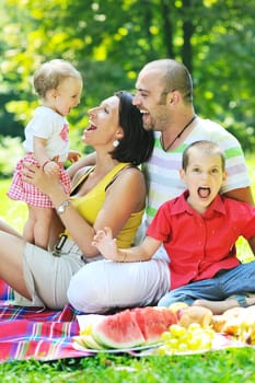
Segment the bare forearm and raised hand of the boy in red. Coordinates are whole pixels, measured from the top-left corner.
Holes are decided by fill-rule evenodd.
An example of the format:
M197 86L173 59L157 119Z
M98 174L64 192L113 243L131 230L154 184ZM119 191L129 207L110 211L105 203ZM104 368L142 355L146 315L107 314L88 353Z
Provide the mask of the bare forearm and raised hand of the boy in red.
M162 242L146 236L139 246L130 248L118 248L116 239L113 239L112 230L104 228L94 235L92 245L107 259L115 262L141 262L150 260Z

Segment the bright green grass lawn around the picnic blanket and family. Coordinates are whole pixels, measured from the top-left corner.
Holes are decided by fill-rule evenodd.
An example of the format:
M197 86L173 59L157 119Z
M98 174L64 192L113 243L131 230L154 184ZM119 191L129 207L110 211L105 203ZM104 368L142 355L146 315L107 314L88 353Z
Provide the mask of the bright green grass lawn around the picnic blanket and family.
M247 159L250 175L255 186L255 159ZM0 217L22 232L26 207L5 196L10 181L0 182ZM237 242L243 260L252 258L244 240ZM82 359L54 362L12 361L0 364L0 382L53 383L252 383L255 382L255 349L228 349L189 356L135 358L128 355L97 355Z

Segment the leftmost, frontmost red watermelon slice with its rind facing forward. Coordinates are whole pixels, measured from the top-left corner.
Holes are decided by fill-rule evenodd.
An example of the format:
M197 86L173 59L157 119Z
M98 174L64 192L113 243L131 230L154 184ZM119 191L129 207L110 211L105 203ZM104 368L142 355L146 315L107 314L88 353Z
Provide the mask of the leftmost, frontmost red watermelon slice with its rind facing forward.
M104 317L93 327L92 336L105 348L134 348L144 345L144 337L129 309Z

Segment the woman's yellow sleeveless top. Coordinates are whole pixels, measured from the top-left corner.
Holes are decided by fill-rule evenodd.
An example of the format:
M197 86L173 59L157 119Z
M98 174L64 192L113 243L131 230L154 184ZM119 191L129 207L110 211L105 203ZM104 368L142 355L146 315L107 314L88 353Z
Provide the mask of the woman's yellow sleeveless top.
M71 204L77 209L77 211L84 218L84 220L93 225L97 213L102 209L105 201L105 194L107 186L109 186L117 174L123 171L125 167L130 167L130 163L120 162L117 164L106 176L98 182L98 184L86 193L84 196L71 197ZM94 170L94 166L91 167L74 185L73 190L89 176L89 174ZM118 201L116 201L116 209L118 209ZM130 247L134 244L136 232L141 224L142 214L144 209L131 213L130 218L126 222L125 227L120 230L117 235L117 245L118 247L126 248ZM69 233L66 233L69 235Z

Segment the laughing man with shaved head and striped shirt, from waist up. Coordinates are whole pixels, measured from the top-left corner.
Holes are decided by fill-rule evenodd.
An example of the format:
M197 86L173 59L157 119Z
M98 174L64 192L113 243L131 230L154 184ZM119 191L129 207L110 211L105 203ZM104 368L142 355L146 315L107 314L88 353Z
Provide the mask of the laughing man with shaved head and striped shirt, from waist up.
M173 59L147 63L136 82L134 104L141 111L144 129L155 131L153 154L144 171L148 177L147 225L159 207L184 190L179 178L182 154L197 140L210 140L225 155L228 178L221 193L253 204L244 154L239 141L219 124L196 115L193 81L187 68Z

